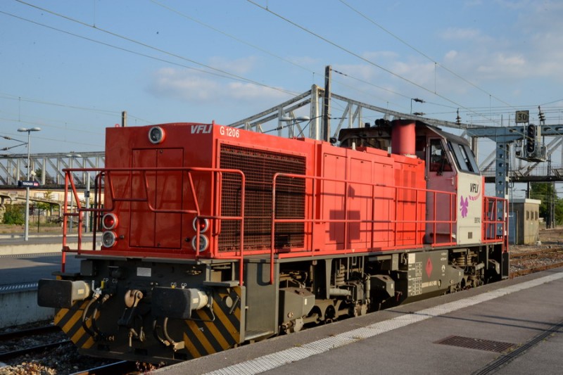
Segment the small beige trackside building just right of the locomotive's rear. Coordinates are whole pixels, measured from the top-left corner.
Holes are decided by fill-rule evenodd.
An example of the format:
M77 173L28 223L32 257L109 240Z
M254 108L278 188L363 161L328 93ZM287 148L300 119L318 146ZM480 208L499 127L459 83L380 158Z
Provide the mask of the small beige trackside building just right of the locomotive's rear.
M538 199L517 198L509 203L512 220L509 227L510 242L516 245L533 245L540 239L540 203Z

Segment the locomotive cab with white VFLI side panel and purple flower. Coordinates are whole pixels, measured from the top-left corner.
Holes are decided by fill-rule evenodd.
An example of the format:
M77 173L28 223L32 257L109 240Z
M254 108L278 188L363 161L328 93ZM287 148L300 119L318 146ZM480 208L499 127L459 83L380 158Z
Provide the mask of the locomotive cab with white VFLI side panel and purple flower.
M411 131L394 131L405 126ZM465 139L423 122L377 120L375 127L343 129L339 141L341 147L367 146L424 160L426 243L479 241L484 181Z

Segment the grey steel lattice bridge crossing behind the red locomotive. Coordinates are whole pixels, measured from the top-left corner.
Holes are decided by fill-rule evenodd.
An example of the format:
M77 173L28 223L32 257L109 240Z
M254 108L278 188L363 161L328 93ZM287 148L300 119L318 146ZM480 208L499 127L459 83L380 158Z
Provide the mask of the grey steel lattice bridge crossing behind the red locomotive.
M563 182L561 165L540 162L526 162L516 155L525 146L525 126L484 127L435 120L414 114L399 113L387 108L361 103L338 94L330 94L329 100L324 89L313 85L289 101L280 103L261 113L234 122L229 126L254 132L277 134L278 136L305 136L312 139L338 137L340 129L365 127L366 122L374 124L376 119L402 118L426 122L438 127L459 129L461 136L470 139L477 155L479 139L487 138L495 142L495 150L481 161L479 167L487 182L495 182L496 196L505 197L510 182ZM336 110L335 108L339 108ZM303 115L305 114L305 116ZM189 119L186 119L189 120ZM545 159L563 154L563 125L538 125L545 139ZM559 151L557 153L557 151ZM557 156L559 158L559 156ZM34 180L42 189L64 189L63 170L72 168L103 168L104 153L36 153L30 155L30 170L35 173ZM18 181L27 177L27 153L0 155L0 189L15 189ZM87 179L94 186L94 175L77 172L75 184L84 189ZM507 178L508 177L508 178Z

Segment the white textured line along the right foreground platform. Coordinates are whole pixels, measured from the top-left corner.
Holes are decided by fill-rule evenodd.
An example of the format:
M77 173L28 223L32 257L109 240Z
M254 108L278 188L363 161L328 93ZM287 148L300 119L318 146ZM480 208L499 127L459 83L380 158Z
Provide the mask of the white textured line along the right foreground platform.
M364 338L377 336L381 333L393 331L393 329L398 329L404 326L408 326L409 324L422 322L423 320L432 317L438 317L443 314L448 314L450 312L463 309L464 307L470 307L478 303L483 303L488 300L502 297L503 295L517 291L523 291L525 289L533 288L534 286L539 286L541 284L549 283L550 281L555 281L562 278L563 272L550 274L548 276L526 281L521 284L507 286L505 288L481 293L479 295L464 298L462 300L457 300L455 302L445 303L443 305L419 310L417 312L413 312L412 314L403 314L399 317L388 319L384 322L370 324L369 326L365 326L359 329L353 329L352 331L346 331L335 336L322 338L321 340L313 341L312 343L307 343L299 347L289 348L282 350L281 352L276 352L270 355L264 355L262 357L255 358L254 360L248 360L238 364L233 364L232 366L224 367L223 369L208 372L205 375L260 374L261 372L275 369L276 367L283 366L284 364L304 360L305 358L311 357L312 355L321 354L323 352L327 352L335 348L340 348L341 346L348 345L350 343L355 343L356 341L362 340Z

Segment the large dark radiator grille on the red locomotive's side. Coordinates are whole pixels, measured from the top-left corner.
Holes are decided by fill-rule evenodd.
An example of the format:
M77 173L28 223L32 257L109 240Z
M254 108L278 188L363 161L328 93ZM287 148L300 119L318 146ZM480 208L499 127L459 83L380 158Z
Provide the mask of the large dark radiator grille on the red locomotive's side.
M241 170L246 176L244 212L244 248L270 248L272 238L272 181L277 172L305 174L305 158L240 146L222 145L220 167ZM224 216L238 216L241 210L241 181L238 174L224 174L222 180L221 212ZM276 218L305 218L305 180L279 177L276 183ZM240 222L223 220L219 236L219 250L240 247ZM302 248L303 223L276 224L276 248Z

